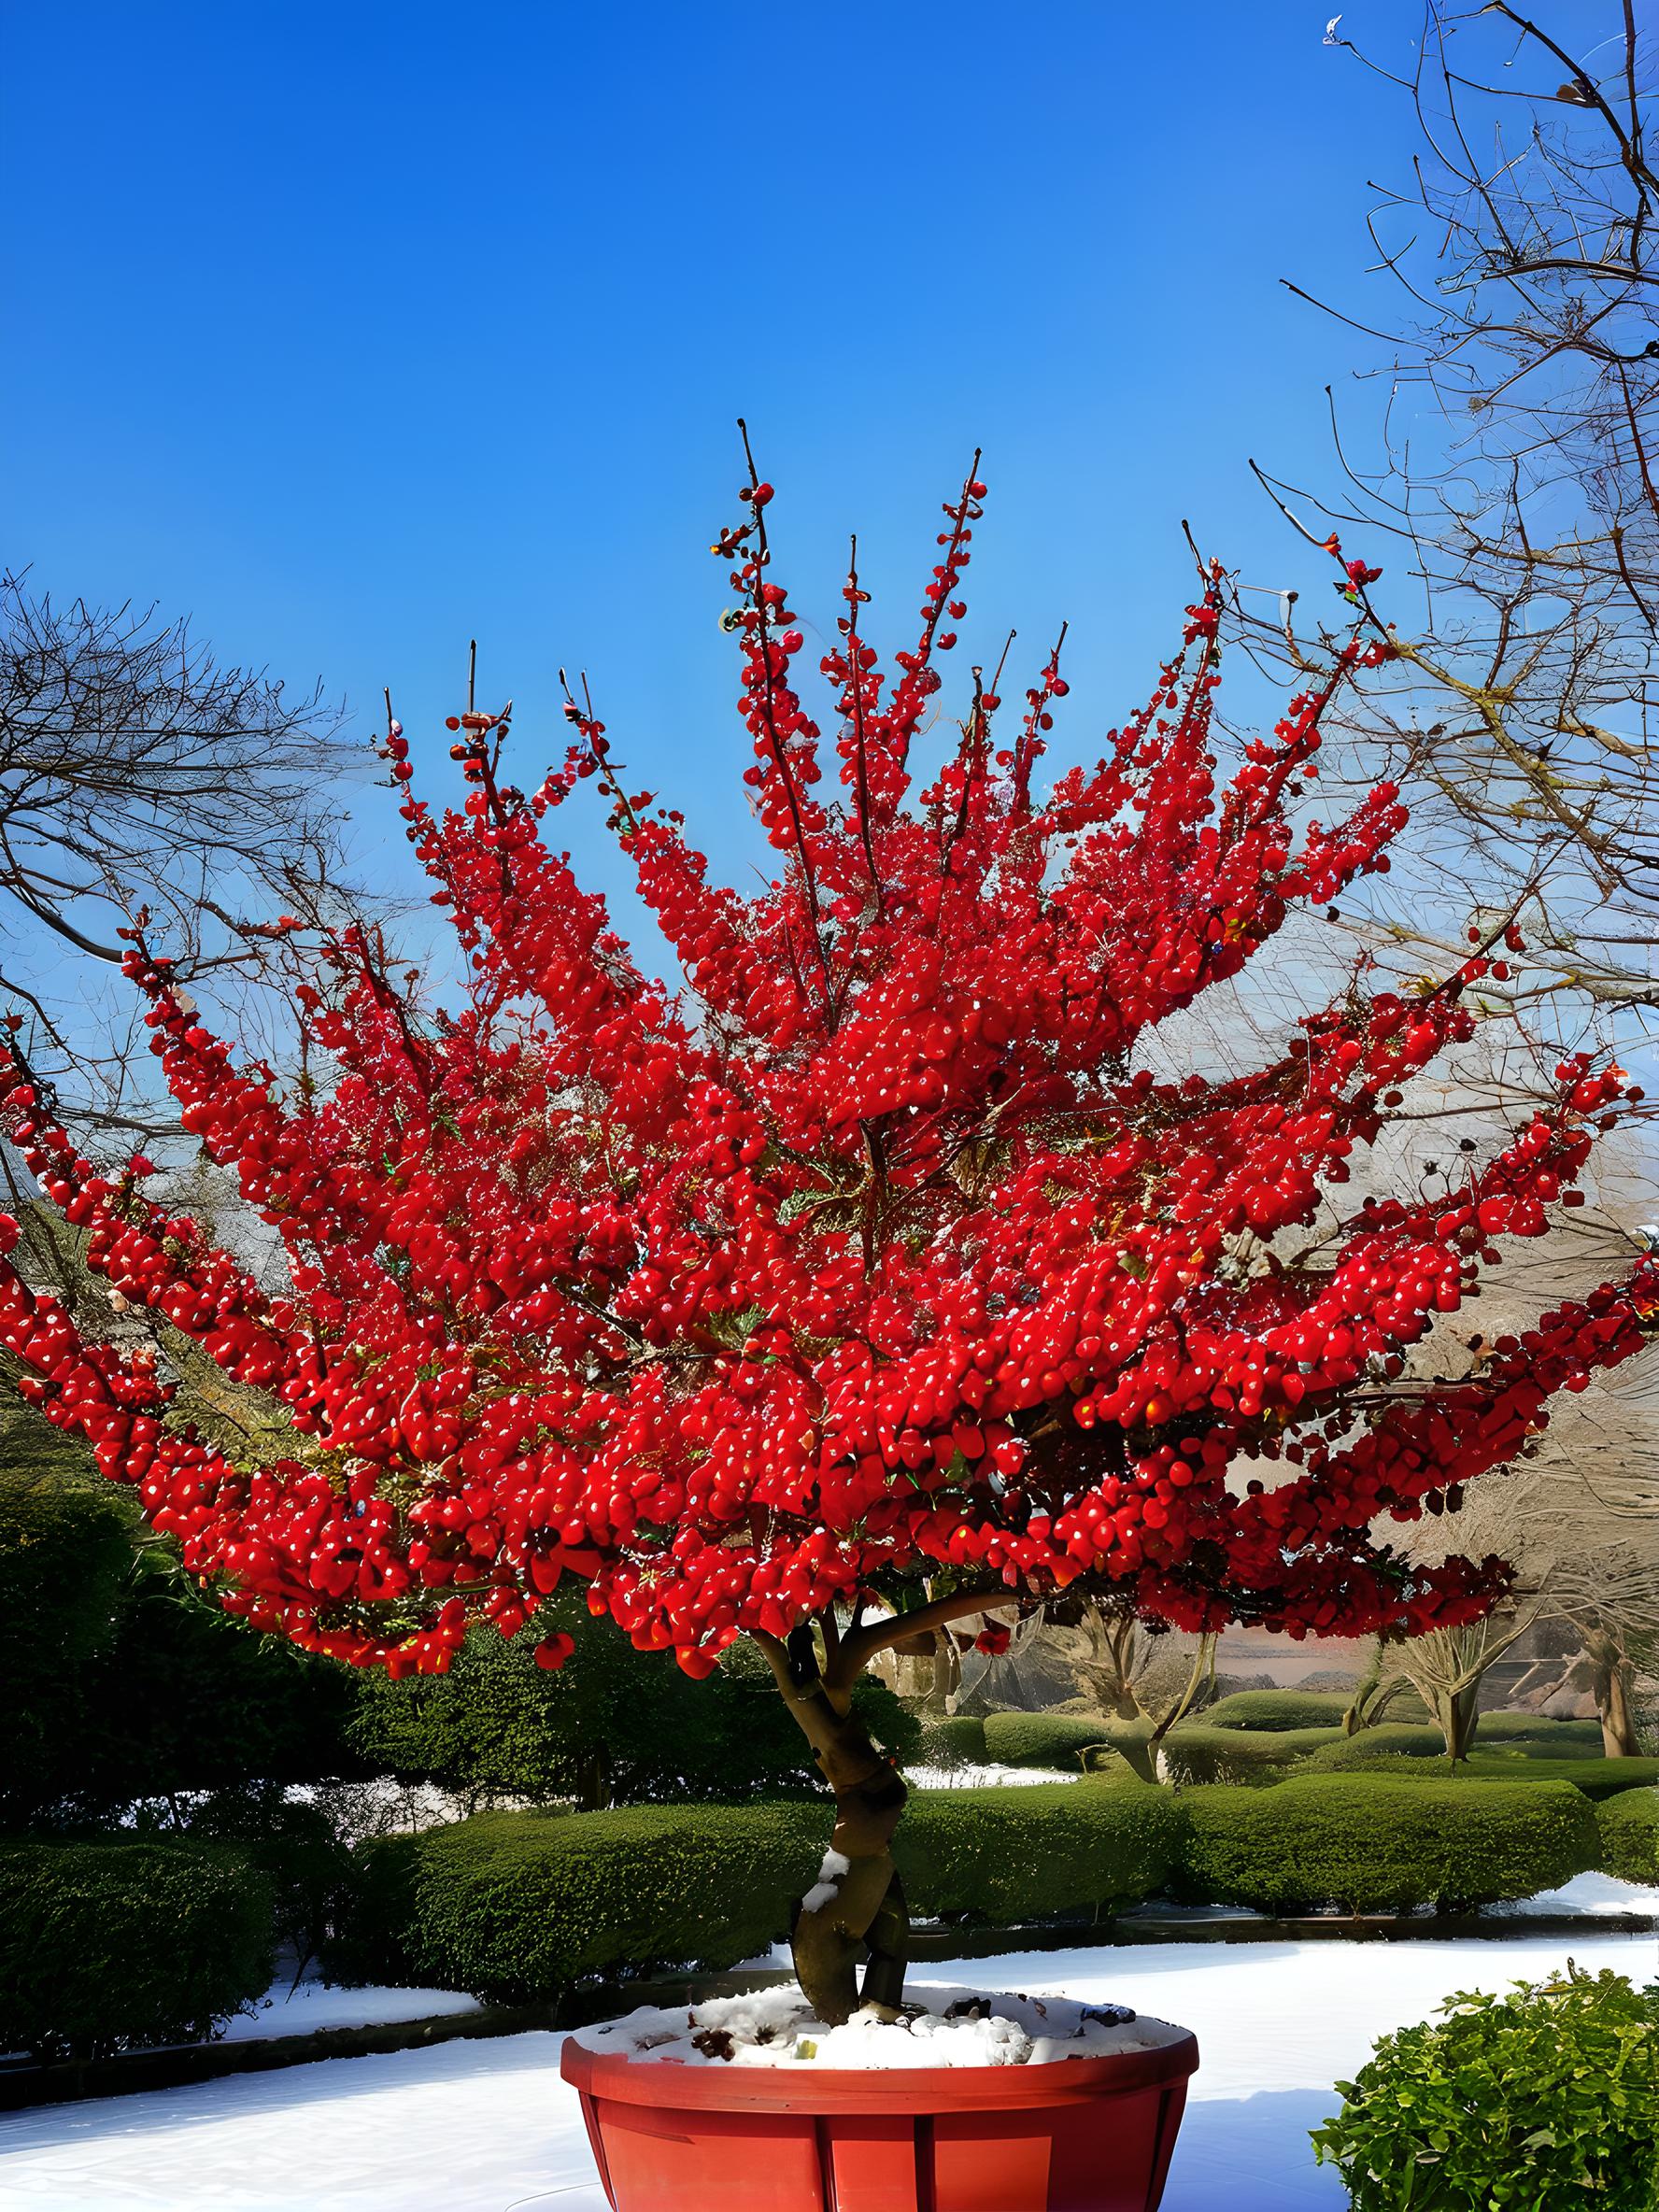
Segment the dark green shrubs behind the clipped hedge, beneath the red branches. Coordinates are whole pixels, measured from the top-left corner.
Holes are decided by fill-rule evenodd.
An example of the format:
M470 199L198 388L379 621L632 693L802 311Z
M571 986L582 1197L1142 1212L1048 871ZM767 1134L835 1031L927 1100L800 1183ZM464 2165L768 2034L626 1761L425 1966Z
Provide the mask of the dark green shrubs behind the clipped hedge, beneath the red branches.
M400 1683L365 1674L349 1741L376 1772L438 1781L473 1805L575 1796L584 1809L661 1798L757 1798L821 1790L807 1741L772 1670L739 1641L708 1681L639 1652L595 1621L580 1590L540 1617L575 1637L557 1672L538 1668L526 1630L511 1644L476 1630L449 1674ZM878 1681L854 1692L860 1719L909 1759L920 1723Z

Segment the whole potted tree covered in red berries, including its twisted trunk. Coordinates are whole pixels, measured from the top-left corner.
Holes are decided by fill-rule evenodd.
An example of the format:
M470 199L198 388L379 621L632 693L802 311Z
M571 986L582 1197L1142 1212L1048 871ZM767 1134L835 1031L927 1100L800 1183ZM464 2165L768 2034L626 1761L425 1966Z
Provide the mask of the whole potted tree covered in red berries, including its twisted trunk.
M150 1356L84 1340L4 1270L27 1396L137 1489L232 1613L358 1666L442 1670L471 1619L511 1637L575 1573L595 1613L690 1674L754 1637L836 1796L841 1856L796 1924L825 2020L858 2002L865 1955L867 2000L902 1982L905 1785L849 1710L876 1652L980 1615L1002 1615L995 1644L1011 1610L1073 1584L1181 1628L1478 1617L1502 1562L1413 1566L1374 1526L1455 1504L1551 1394L1635 1352L1657 1303L1644 1263L1467 1380L1409 1374L1491 1248L1573 1203L1624 1095L1617 1071L1564 1062L1553 1104L1464 1188L1343 1210L1332 1186L1398 1086L1469 1035L1462 993L1491 947L1416 998L1356 980L1252 1075L1144 1064L1148 1035L1294 907L1387 867L1405 823L1389 785L1340 825L1292 821L1321 717L1389 653L1369 573L1349 571L1354 630L1325 681L1225 781L1217 575L1093 768L1040 794L1055 655L1013 708L975 670L920 783L982 493L971 478L945 509L891 679L849 575L825 739L772 573L772 491L750 480L714 551L741 602L745 783L779 856L759 894L710 885L681 816L628 787L571 701L568 761L529 794L502 781L504 723L458 717L469 796L442 816L411 794L392 723L467 987L425 1015L369 938L325 942L299 1006L327 1084L279 1095L135 933L126 967L184 1128L279 1234L281 1294L150 1203L146 1161L97 1172L22 1068L7 1099L91 1265L285 1407L290 1449L234 1464L170 1422ZM675 991L557 847L584 779L679 960ZM1327 1234L1287 1234L1316 1214ZM557 1666L566 1646L538 1655Z

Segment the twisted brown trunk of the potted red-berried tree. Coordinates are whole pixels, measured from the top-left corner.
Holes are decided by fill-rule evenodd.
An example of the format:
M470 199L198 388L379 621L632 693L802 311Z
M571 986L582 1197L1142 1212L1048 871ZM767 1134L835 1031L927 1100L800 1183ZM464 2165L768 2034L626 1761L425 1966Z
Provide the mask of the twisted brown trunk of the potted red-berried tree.
M852 2020L860 2004L894 2020L905 2002L909 1911L891 1840L909 1792L852 1712L852 1692L825 1686L810 1635L790 1644L790 1679L779 1688L836 1794L823 1874L790 1929L796 1980L827 2026Z

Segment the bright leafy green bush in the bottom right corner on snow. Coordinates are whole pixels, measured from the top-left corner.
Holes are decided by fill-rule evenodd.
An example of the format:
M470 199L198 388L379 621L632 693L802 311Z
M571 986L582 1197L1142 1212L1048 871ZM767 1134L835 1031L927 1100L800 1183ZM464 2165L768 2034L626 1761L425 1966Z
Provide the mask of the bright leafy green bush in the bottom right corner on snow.
M1385 2035L1314 2130L1354 2212L1652 2212L1659 1991L1568 1966Z

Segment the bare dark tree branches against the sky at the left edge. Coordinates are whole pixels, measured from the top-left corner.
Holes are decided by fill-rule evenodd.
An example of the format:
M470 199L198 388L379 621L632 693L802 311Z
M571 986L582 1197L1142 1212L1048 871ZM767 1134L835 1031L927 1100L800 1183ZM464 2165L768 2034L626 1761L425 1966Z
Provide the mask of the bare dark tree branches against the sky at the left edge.
M0 993L29 1011L42 1073L77 1075L77 1106L133 1121L131 1040L84 1006L86 962L119 962L137 907L181 973L221 984L268 962L283 911L323 909L327 785L352 768L338 723L321 690L217 661L186 622L0 577Z

